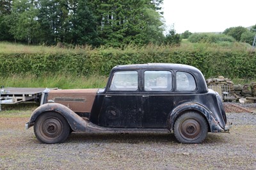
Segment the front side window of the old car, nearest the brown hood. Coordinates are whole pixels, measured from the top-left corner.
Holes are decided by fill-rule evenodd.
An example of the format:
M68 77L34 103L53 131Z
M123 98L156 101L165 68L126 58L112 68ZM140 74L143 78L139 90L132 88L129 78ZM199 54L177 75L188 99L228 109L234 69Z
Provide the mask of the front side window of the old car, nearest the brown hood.
M122 71L115 72L110 84L111 91L137 91L138 90L138 72Z

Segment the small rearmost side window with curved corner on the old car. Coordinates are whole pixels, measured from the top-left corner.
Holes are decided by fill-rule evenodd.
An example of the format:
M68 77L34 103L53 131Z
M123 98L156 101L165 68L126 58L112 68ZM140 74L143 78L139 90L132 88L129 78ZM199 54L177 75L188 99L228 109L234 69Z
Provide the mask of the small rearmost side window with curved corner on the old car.
M196 82L191 73L176 72L176 86L178 91L194 91Z

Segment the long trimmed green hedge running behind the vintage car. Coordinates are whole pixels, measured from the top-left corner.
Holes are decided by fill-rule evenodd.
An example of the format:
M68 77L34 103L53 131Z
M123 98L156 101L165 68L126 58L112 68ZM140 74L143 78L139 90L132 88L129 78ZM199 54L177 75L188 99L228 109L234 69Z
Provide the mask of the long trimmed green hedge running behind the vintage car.
M45 75L61 73L74 75L108 75L115 65L134 63L182 63L193 65L205 78L223 75L229 78L256 77L256 54L250 51L182 50L163 47L97 49L83 52L0 53L1 76L11 74Z

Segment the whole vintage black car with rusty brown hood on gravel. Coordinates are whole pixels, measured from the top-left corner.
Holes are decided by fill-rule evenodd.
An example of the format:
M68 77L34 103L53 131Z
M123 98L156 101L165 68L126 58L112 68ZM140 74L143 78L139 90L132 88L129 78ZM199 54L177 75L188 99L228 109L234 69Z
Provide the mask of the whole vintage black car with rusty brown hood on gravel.
M70 132L174 132L180 143L202 143L232 124L200 70L179 64L118 65L104 89L45 91L41 103L26 128L42 143L62 143Z

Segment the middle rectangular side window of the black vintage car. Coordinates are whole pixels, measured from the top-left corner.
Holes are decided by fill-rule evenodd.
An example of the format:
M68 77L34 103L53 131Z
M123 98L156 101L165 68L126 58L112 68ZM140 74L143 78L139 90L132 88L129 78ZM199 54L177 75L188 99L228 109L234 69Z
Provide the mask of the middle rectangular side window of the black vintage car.
M144 72L145 91L171 91L172 72L170 71L145 71Z

